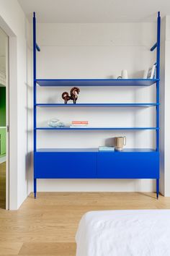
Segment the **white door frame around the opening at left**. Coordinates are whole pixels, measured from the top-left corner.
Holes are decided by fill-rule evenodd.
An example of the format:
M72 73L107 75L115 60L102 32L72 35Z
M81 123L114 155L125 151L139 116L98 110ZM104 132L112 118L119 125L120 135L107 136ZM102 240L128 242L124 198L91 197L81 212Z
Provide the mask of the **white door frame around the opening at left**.
M7 121L9 125L9 132L7 134L6 150L8 158L6 168L6 210L17 210L18 208L18 188L17 188L17 35L13 32L11 27L0 15L0 27L8 36L8 101L7 108L8 116Z

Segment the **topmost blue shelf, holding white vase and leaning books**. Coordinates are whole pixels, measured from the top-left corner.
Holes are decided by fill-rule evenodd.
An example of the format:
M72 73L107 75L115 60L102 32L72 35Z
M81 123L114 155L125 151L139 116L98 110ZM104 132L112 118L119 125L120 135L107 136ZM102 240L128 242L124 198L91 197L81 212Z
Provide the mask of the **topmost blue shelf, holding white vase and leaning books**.
M37 79L40 86L150 86L158 79Z

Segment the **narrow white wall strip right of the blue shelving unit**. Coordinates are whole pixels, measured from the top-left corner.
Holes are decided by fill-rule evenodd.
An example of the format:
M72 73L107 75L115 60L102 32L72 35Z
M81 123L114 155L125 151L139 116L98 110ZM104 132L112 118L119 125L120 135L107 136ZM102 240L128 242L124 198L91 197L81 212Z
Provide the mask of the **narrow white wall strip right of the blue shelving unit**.
M170 121L169 121L169 95L170 95L170 16L162 20L161 40L161 192L170 196Z

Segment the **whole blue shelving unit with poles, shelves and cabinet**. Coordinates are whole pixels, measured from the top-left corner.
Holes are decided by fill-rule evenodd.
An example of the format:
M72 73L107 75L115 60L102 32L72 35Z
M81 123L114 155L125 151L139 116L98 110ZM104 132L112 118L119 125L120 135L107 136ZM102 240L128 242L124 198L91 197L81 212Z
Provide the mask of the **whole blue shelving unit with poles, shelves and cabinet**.
M159 80L160 80L160 31L161 17L157 17L156 79L37 79L36 19L33 15L33 65L34 65L34 194L37 179L156 179L156 197L159 193ZM156 86L156 103L37 103L37 86ZM37 127L37 108L79 107L155 107L156 127ZM153 130L156 132L156 148L129 148L122 152L101 152L97 148L37 148L37 130ZM63 163L76 162L69 166ZM79 167L81 166L81 168Z

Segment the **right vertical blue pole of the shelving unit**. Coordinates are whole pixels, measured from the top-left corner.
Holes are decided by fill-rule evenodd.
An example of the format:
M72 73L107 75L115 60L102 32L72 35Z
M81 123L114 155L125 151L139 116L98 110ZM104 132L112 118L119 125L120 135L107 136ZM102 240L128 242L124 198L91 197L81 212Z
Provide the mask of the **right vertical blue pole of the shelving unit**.
M156 127L159 128L159 80L160 80L160 37L161 37L161 17L160 12L158 12L157 18L157 51L156 51ZM156 130L156 151L159 152L159 129ZM159 194L159 179L156 179L156 197L158 199Z

